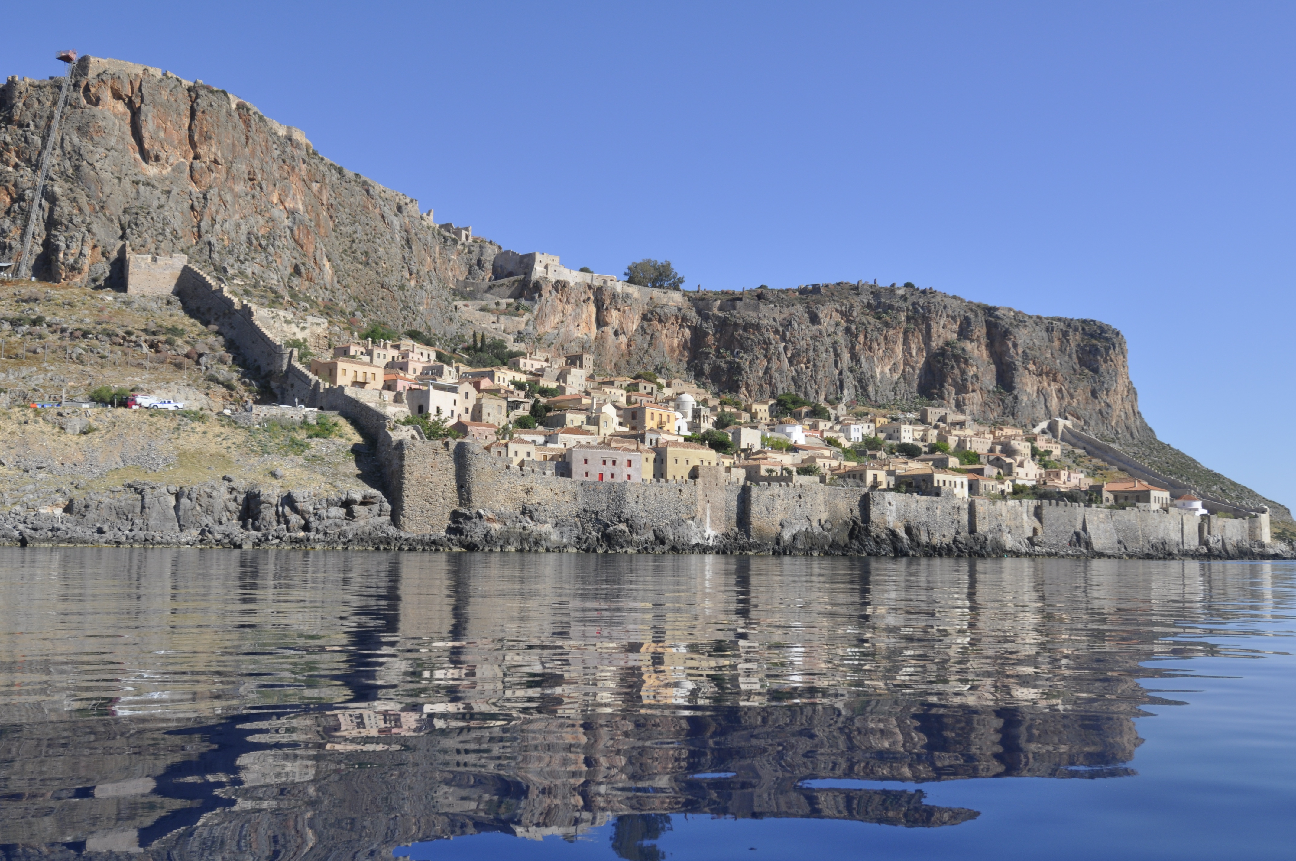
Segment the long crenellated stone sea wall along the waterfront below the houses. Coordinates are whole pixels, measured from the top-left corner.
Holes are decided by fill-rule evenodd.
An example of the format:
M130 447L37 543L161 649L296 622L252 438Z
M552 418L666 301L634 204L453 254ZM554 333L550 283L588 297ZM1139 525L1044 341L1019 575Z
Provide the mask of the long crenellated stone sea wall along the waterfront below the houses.
M404 430L403 428L400 430ZM388 433L391 437L391 433ZM1251 556L1247 520L1064 502L958 499L828 485L696 480L597 482L512 466L474 442L389 443L394 523L469 550L868 555Z

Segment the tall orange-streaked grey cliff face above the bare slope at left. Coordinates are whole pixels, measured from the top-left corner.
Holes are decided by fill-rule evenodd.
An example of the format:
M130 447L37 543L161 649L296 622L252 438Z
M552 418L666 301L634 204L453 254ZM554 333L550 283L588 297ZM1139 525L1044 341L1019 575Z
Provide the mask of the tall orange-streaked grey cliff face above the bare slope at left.
M0 258L21 249L60 82L0 88ZM111 283L133 253L188 254L262 301L455 327L448 287L498 246L460 241L419 202L321 157L248 102L157 69L83 57L38 220L32 274Z

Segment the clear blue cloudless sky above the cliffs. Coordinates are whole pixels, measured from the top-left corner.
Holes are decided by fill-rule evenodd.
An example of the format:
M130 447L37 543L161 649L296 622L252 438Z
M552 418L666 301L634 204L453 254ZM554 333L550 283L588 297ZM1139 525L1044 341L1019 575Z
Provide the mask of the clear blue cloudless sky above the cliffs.
M201 78L570 266L1105 320L1163 440L1296 504L1293 4L64 3L6 25L6 75L73 47Z

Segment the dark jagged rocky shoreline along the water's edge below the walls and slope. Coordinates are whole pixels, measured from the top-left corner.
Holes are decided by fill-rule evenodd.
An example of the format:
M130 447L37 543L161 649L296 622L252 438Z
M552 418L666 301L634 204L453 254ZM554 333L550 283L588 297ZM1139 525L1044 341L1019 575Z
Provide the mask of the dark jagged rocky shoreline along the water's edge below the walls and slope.
M1074 559L1296 559L1286 542L1205 545L1196 552L1103 554L1048 546L1034 539L1003 542L986 534L923 538L916 530L858 517L753 541L714 533L695 520L665 524L610 523L584 511L565 523L531 520L525 512L457 508L445 533L416 534L391 524L380 491L324 495L276 494L240 486L231 477L179 488L131 482L69 502L58 511L0 515L0 545L98 547L224 547L284 550L421 550L476 552L625 552L739 555L855 555Z

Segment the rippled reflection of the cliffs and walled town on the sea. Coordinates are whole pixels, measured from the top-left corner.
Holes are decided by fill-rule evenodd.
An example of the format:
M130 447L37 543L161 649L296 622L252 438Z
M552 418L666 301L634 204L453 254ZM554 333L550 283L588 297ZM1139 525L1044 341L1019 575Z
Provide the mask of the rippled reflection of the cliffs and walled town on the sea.
M677 813L956 825L977 813L918 788L805 782L1130 774L1155 702L1135 679L1213 648L1166 637L1273 577L87 550L14 550L0 573L21 631L0 638L0 856L175 858Z

